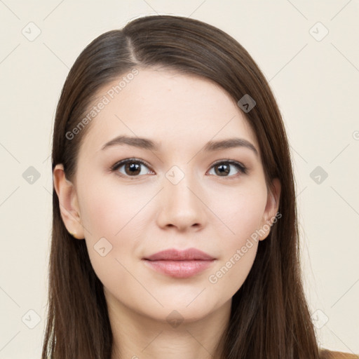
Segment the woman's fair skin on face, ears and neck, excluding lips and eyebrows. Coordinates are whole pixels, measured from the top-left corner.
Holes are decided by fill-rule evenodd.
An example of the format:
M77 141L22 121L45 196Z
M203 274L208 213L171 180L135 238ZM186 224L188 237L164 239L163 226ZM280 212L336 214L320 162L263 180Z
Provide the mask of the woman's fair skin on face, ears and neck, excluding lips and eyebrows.
M104 86L99 97L116 83ZM86 241L104 285L114 334L111 359L213 358L231 298L248 276L259 241L269 234L265 224L276 216L280 198L278 180L267 188L245 115L214 83L153 68L140 69L88 126L74 182L65 178L62 165L53 177L65 226L76 233L74 241ZM118 135L147 138L158 149L128 144L102 149ZM233 137L248 141L258 154L244 146L203 149L209 141ZM140 166L136 175L125 165L110 170L126 158L147 165L130 162ZM223 168L228 172L221 175ZM172 178L181 175L174 184ZM259 229L264 229L259 241L233 262ZM112 245L104 257L94 249L100 238ZM168 248L198 248L215 260L189 278L159 273L142 260ZM211 282L231 258L231 268ZM167 319L170 313L179 325Z

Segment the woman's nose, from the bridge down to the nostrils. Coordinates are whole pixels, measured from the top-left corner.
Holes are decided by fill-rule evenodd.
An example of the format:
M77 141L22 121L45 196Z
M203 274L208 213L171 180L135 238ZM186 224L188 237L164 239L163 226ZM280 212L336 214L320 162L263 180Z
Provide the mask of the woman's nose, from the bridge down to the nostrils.
M164 178L161 197L158 198L161 206L158 226L163 229L175 227L178 231L202 229L207 220L203 196L200 186L190 181L189 175L177 184Z

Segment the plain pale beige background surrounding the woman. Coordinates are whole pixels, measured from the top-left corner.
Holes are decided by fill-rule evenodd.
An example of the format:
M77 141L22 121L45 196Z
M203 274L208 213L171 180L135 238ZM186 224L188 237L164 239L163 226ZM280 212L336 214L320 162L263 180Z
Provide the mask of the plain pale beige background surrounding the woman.
M318 337L326 348L359 353L358 1L0 0L0 359L40 358L50 144L65 77L96 36L151 13L223 29L270 81L290 138ZM30 166L40 175L32 184ZM317 166L322 173L312 173Z

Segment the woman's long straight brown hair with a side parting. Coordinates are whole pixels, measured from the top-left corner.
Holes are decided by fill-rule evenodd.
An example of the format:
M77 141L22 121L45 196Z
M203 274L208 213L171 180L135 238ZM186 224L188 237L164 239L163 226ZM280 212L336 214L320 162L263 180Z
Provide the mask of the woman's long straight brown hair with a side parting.
M62 88L55 115L52 169L62 163L67 179L76 172L79 147L90 124L67 133L86 115L96 93L131 69L160 66L201 76L238 102L256 104L245 113L257 135L267 184L281 184L280 219L232 299L222 336L222 359L317 359L319 349L302 284L297 205L287 136L276 100L261 70L231 36L190 18L151 15L93 40L79 55ZM93 121L96 121L95 119ZM90 264L85 241L67 232L53 189L48 322L43 358L110 359L112 333L103 286ZM218 346L219 348L219 346ZM217 358L216 357L216 358Z

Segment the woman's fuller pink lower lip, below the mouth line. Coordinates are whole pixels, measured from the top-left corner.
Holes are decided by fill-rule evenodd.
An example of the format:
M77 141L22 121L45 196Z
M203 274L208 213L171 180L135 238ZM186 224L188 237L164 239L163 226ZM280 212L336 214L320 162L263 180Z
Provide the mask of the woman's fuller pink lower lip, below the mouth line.
M145 259L144 262L151 266L155 271L166 274L167 276L189 278L208 269L208 267L215 262L215 259L191 261L150 261Z

